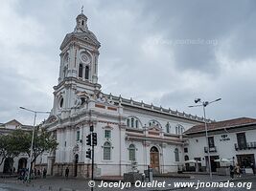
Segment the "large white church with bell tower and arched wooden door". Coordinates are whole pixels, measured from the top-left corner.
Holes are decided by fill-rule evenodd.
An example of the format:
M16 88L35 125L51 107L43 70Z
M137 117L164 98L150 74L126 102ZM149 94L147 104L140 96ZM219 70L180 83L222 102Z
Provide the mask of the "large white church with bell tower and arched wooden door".
M93 125L96 176L143 172L148 165L155 173L177 172L184 162L182 133L203 118L103 93L98 83L100 47L81 12L75 30L60 45L53 109L43 124L57 138L58 149L38 161L49 175L64 175L68 167L71 176L89 177L86 136Z

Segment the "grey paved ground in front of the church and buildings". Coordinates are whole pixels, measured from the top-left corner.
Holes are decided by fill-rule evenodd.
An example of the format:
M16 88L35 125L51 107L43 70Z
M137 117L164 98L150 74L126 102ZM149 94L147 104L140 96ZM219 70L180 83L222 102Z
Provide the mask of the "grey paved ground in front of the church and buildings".
M233 182L236 187L198 187L198 182ZM165 182L165 183L164 183ZM175 188L176 182L194 182L194 187L183 187L183 188ZM209 191L242 191L242 190L253 190L256 191L256 176L245 175L241 178L235 178L234 180L230 180L228 176L217 176L214 175L212 180L209 180L209 176L207 175L191 175L191 179L186 178L154 178L154 181L151 184L137 184L128 185L122 184L121 181L105 181L105 180L96 180L95 182L90 182L89 180L84 179L74 179L70 178L65 180L64 178L59 177L48 177L47 179L40 180L32 180L31 183L23 183L21 180L16 179L0 179L0 191L82 191L82 190L91 190L90 185L94 185L94 191L120 191L120 190L178 190L178 191L191 191L191 190L209 190ZM163 186L163 184L165 184ZM100 187L104 185L105 187ZM113 187L114 185L118 187ZM123 187L127 186L127 187ZM203 185L203 183L201 184ZM244 187L242 186L244 185ZM242 186L242 187L238 187Z

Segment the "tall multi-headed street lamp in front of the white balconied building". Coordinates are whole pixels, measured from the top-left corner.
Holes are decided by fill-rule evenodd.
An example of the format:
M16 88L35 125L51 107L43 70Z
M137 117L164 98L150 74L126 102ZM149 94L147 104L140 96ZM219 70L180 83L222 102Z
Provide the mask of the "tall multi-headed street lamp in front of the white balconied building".
M207 157L208 157L208 164L209 164L209 174L210 179L212 180L213 174L212 174L212 167L211 167L211 159L210 159L210 147L209 147L209 139L208 139L208 131L207 131L207 122L206 122L206 115L205 115L205 107L211 103L220 101L221 98L218 98L214 101L201 101L200 98L195 99L195 103L200 103L199 105L191 105L189 107L202 107L203 108L203 117L204 117L204 127L205 127L205 138L206 138L206 148L207 148Z

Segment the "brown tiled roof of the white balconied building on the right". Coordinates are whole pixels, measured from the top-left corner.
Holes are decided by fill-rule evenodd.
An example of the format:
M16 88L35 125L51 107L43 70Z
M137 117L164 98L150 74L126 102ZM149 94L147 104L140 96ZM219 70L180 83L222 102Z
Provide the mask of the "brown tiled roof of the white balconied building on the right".
M244 125L251 125L251 124L256 124L256 118L240 117L240 118L233 118L233 119L222 120L218 122L207 123L207 130L214 131L214 130L225 129L225 128L241 127ZM195 133L201 133L201 132L205 132L204 124L193 126L192 128L185 131L184 134L189 135L189 134L195 134Z

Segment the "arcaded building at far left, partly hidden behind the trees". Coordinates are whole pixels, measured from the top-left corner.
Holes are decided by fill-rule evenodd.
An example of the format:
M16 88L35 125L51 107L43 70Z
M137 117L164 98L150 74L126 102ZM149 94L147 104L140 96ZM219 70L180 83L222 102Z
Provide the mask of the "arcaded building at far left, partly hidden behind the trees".
M16 129L21 129L24 131L31 131L32 126L30 125L23 125L16 119L12 119L11 121L8 121L6 123L0 123L0 136L1 135L7 135L12 133L12 131ZM5 159L0 165L0 173L9 174L11 170L11 167L15 168L15 171L18 172L19 169L27 167L27 161L29 157L26 154L21 154L18 157L14 159ZM2 160L0 156L0 161Z

